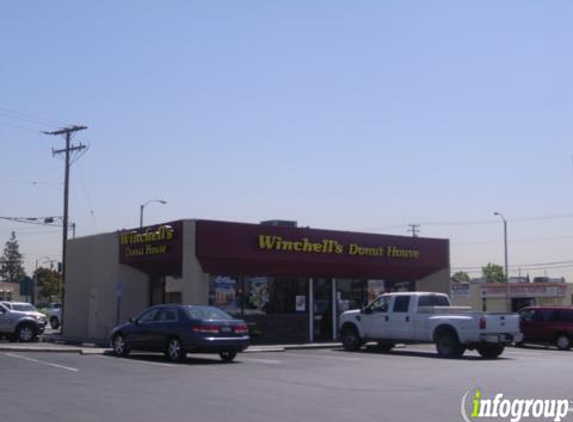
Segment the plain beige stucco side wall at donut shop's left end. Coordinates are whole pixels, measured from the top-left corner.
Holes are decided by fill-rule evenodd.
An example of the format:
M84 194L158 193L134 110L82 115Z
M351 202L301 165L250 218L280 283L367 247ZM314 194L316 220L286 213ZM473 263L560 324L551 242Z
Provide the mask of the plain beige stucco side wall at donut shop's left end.
M118 283L123 285L120 322L148 303L146 274L119 264L117 233L73 239L67 248L63 337L105 341L117 322Z

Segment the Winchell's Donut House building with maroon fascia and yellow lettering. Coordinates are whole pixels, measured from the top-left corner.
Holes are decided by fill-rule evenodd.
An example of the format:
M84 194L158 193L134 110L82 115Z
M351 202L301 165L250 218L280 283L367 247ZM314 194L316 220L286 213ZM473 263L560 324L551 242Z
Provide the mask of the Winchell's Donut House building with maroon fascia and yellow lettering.
M449 293L449 241L295 222L178 220L70 240L64 338L105 341L158 303L209 304L253 343L336 339L341 312L388 291Z

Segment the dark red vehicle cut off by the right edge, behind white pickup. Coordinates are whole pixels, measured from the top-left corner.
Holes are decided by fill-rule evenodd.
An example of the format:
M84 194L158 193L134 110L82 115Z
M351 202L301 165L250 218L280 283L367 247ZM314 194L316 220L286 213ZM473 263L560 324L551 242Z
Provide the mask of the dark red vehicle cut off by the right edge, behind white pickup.
M573 307L528 306L519 312L522 343L553 344L569 350L573 341Z

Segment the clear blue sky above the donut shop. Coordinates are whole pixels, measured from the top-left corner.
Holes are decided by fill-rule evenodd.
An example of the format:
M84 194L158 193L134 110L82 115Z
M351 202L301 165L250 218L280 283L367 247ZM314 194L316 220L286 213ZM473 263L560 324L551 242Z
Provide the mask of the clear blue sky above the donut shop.
M0 216L61 215L46 136L87 125L77 235L282 218L451 240L452 267L573 281L573 3L0 4ZM31 181L40 184L29 183ZM456 224L453 224L456 223ZM0 221L26 264L53 227ZM532 264L568 262L564 268ZM472 275L477 275L474 273Z

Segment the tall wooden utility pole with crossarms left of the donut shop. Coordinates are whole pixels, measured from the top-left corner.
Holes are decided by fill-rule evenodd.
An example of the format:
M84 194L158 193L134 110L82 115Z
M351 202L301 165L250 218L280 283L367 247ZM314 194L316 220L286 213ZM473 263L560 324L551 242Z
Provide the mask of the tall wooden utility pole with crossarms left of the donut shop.
M66 138L66 147L60 150L52 150L52 154L64 154L65 172L64 172L64 219L63 219L63 236L62 236L62 322L64 321L65 312L65 297L66 297L66 244L68 243L68 204L69 204L69 190L70 190L70 156L75 151L81 151L86 148L85 145L78 144L72 145L72 135L80 130L87 129L87 126L68 126L66 128L56 130L53 132L44 132L46 135L64 135ZM64 325L62 324L62 334L64 333Z

